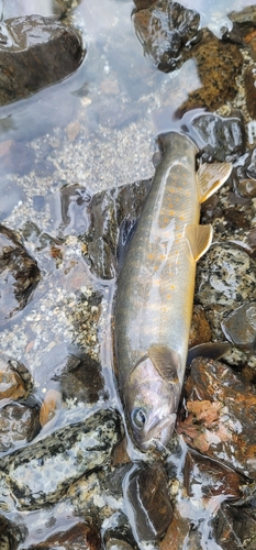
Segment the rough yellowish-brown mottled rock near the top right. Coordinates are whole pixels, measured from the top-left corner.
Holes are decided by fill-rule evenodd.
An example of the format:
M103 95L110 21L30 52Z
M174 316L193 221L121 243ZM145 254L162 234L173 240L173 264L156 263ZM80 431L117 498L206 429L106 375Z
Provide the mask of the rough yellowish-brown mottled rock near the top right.
M218 109L234 99L237 92L236 77L242 72L243 57L236 44L218 40L210 31L203 30L203 37L196 44L188 57L193 56L202 87L189 94L180 112L207 107Z

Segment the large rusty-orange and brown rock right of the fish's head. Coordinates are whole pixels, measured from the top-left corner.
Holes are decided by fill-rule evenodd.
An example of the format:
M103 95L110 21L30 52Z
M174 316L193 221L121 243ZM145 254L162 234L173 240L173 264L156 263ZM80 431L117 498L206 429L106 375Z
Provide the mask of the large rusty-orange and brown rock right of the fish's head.
M197 451L256 479L256 389L231 367L196 359L185 385L188 417L178 431Z

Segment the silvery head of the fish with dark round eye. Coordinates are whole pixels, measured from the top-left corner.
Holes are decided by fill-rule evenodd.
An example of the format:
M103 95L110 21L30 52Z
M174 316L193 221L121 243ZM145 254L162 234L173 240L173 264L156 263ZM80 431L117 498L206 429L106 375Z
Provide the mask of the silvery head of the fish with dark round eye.
M125 388L129 425L142 451L165 449L175 429L180 397L178 376L168 380L154 363L152 356L143 358L131 372Z

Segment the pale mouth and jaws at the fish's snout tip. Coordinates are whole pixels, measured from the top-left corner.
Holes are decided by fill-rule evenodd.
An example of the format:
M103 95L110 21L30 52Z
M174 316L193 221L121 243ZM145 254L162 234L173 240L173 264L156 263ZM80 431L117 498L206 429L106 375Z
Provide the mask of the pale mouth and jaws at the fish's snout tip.
M144 432L143 439L138 441L141 449L147 451L157 448L158 451L163 451L172 436L176 418L177 415L172 413L165 418L154 419Z

